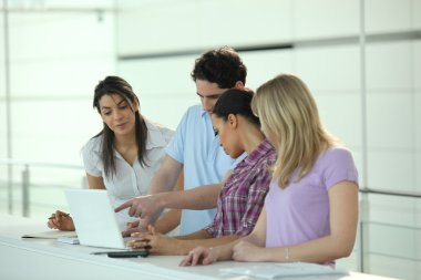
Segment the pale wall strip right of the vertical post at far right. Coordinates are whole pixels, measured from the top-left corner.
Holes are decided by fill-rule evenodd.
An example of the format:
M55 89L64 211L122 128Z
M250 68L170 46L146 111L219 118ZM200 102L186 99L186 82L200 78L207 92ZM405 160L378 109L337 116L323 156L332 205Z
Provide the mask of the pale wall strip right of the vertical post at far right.
M369 34L420 31L421 1L386 3L366 1ZM367 183L371 188L421 191L420 39L367 45ZM420 279L420 199L369 195L369 203L370 271Z

